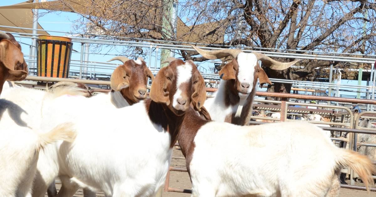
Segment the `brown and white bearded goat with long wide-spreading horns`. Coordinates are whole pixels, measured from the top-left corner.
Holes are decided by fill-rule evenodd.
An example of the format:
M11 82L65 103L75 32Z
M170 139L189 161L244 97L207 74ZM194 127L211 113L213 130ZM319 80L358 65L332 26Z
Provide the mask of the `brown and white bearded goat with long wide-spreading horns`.
M218 91L214 93L214 98L205 102L205 108L212 120L237 125L247 125L250 120L257 79L261 86L264 83L271 84L258 61L274 70L284 70L299 62L278 62L261 53L244 53L238 49L207 51L192 47L208 59L232 56L233 60L219 71L221 82Z

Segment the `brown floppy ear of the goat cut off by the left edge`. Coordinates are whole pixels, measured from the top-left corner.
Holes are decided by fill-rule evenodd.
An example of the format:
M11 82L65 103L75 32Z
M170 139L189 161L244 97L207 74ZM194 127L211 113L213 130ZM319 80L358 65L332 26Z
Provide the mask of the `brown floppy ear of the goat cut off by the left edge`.
M24 63L23 53L19 48L8 40L0 42L0 62L9 73L6 80L9 81L22 81L27 76L27 71L15 70L17 62ZM27 68L27 67L26 67Z

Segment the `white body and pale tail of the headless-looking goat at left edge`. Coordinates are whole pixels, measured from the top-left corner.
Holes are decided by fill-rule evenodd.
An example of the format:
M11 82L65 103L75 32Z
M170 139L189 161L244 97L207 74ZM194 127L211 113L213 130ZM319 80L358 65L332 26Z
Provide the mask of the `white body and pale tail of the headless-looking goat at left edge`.
M3 94L6 95L8 90L5 89ZM20 94L9 96L18 97ZM0 196L30 197L39 150L57 140L74 140L75 132L70 123L40 129L40 121L34 121L38 112L40 110L33 111L30 105L21 107L0 99Z

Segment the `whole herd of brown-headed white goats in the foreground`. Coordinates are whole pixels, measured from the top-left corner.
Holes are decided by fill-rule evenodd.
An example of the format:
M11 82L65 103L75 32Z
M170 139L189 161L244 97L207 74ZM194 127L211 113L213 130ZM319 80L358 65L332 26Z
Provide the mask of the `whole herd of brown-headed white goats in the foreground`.
M207 99L192 60L169 58L154 76L142 58L118 56L112 60L123 65L111 75L111 92L90 96L83 84L47 91L15 86L11 81L23 80L27 65L14 37L0 37L0 196L71 197L79 188L85 196L158 196L176 141L193 196L332 197L345 166L367 189L374 185L371 159L336 147L314 124L247 126L257 80L271 84L258 60L275 70L299 60L192 46L208 59L233 57Z

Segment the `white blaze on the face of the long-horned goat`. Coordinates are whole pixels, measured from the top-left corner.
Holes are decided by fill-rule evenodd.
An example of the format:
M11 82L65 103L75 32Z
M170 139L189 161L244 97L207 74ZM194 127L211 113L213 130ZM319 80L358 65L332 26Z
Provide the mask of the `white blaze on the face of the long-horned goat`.
M253 76L257 57L253 53L239 53L237 60L239 65L238 80L240 83L249 84L249 88L247 89L247 93L249 94L253 89Z

